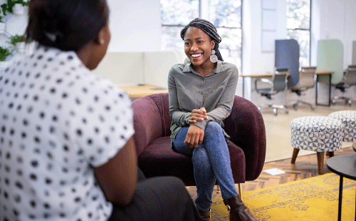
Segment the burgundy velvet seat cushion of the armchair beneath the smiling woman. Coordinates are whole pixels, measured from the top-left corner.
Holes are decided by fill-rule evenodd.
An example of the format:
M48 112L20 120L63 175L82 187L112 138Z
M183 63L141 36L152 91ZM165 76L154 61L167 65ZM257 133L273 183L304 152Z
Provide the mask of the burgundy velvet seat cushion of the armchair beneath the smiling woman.
M241 168L238 171L245 172L244 151L232 142L228 147L231 159L235 159L231 160L231 168ZM182 179L185 185L195 185L192 158L174 152L169 136L157 138L147 145L138 157L138 165L147 178L170 175ZM245 176L245 173L236 174L235 183L244 183Z

